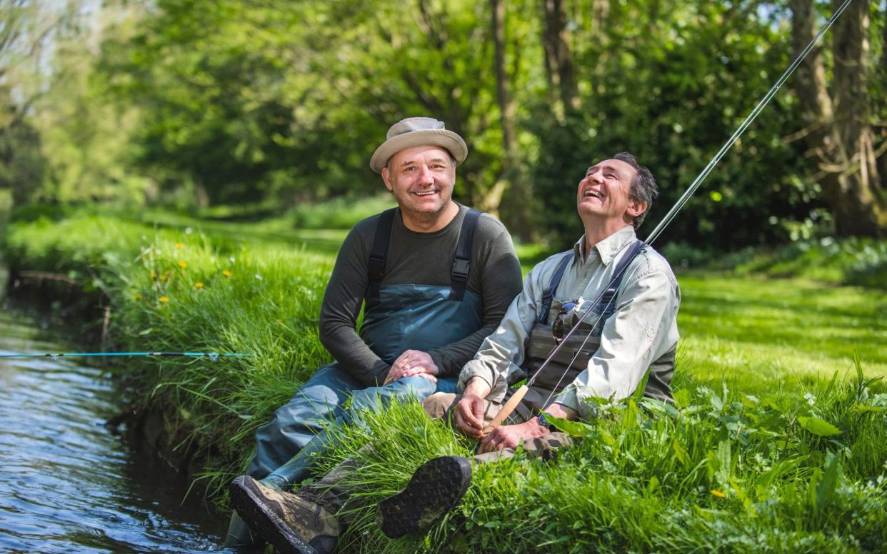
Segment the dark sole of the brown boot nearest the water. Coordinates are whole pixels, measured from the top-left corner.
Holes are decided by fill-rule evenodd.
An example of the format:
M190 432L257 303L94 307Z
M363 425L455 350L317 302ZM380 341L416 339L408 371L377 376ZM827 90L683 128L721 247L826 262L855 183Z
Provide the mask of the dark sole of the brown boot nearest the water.
M317 550L293 532L277 514L262 509L264 495L252 477L241 475L233 480L229 492L234 509L249 527L274 545L280 554L318 554Z

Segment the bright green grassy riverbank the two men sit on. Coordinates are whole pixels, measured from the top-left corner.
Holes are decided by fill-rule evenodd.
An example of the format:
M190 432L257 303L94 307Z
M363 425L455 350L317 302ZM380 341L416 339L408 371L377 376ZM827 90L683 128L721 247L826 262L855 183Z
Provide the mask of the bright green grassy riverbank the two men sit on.
M328 360L318 307L343 231L143 218L15 222L6 257L104 295L116 348L253 354L116 370L224 484L255 426ZM679 281L676 408L648 405L659 416L639 420L625 402L575 426L586 440L558 464L480 469L459 511L424 539L386 541L366 511L344 540L396 551L883 548L887 395L871 378L887 374L887 293L754 272ZM325 464L385 437L360 454L377 462L357 477L369 498L400 488L428 457L471 446L416 405L341 433Z

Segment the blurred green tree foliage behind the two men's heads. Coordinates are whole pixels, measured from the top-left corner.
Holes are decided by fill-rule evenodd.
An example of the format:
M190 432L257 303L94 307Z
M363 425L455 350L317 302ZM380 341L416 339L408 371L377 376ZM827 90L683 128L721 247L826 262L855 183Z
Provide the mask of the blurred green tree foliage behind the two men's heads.
M51 56L32 56L29 70L9 78L16 94L0 93L36 133L12 141L10 159L34 170L17 178L30 186L20 187L22 201L299 212L312 201L378 191L367 168L374 148L390 124L422 114L467 140L456 198L557 249L580 232L572 191L589 163L635 152L662 185L648 217L658 221L790 62L784 4L555 4L565 18L564 82L550 59L550 21L527 0L502 4L501 67L487 3L66 4L62 20L74 24L50 34ZM27 27L26 36L42 35L40 5L3 7L6 19L23 21L4 33ZM884 13L872 5L873 62L883 60ZM8 54L0 50L4 91ZM872 66L867 92L877 125L887 104L883 64ZM507 76L507 98L498 98L497 70ZM802 146L809 121L789 93L795 83L720 162L663 242L723 251L828 232L820 176L810 176L815 163ZM39 98L20 102L29 96L22 90ZM515 129L518 167L503 162L503 124ZM0 142L3 128L0 121ZM876 152L881 142L875 133ZM885 164L882 155L882 176ZM510 188L514 175L527 176L530 191Z

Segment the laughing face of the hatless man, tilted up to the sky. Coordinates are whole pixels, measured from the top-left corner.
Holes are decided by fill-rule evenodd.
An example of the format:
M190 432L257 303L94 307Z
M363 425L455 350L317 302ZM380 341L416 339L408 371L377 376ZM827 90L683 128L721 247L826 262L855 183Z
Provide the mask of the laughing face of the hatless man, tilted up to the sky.
M632 224L647 209L647 203L630 197L637 174L622 160L603 160L585 172L577 188L577 209L586 225L619 230Z

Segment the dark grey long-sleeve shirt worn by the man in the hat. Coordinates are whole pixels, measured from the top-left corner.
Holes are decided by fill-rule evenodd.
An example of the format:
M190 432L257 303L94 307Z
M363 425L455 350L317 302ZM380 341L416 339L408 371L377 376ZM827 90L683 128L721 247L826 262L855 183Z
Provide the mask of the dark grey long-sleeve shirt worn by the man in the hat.
M397 210L382 285L451 285L453 255L467 207L442 230L420 233L407 229ZM366 386L381 383L390 365L357 334L357 316L364 302L367 264L378 215L358 222L342 243L320 308L320 341L341 367ZM477 222L467 290L483 299L483 326L465 339L428 352L443 377L454 376L471 359L483 339L496 330L514 296L521 290L521 266L505 226L490 215Z

